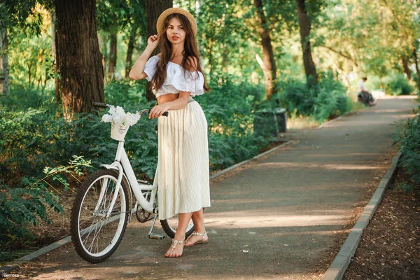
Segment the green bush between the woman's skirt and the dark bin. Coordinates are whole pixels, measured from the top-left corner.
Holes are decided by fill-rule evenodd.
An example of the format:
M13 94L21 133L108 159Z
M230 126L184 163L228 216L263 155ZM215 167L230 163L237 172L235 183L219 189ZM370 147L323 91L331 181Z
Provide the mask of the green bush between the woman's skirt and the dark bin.
M222 85L210 85L211 92L196 97L209 124L211 170L222 169L251 158L267 147L267 135L253 133L255 111L261 106L264 87L232 83L229 75Z

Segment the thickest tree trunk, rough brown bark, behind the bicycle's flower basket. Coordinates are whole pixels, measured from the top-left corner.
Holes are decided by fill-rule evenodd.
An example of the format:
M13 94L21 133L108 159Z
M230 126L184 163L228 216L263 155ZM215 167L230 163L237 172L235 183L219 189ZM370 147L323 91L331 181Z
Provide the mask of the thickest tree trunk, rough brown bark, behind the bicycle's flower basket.
M57 69L64 116L90 112L104 102L104 71L97 37L95 0L56 0Z

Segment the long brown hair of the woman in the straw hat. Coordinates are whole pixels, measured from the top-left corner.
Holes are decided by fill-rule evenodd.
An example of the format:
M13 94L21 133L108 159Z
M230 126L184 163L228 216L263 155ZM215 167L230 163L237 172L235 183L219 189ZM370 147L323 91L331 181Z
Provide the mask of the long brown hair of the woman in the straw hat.
M155 75L152 78L152 85L154 88L159 89L162 87L163 83L165 82L165 78L167 77L167 64L169 59L171 59L171 42L167 38L167 28L169 26L170 20L172 18L178 18L181 22L183 28L186 31L186 39L184 41L184 50L183 50L183 58L181 62L182 69L184 71L184 76L186 75L186 70L191 68L191 64L189 62L188 57L195 57L197 59L197 67L193 69L193 71L200 71L203 73L202 68L200 66L200 54L198 52L197 42L195 41L195 36L193 34L193 28L191 27L190 21L186 18L185 15L181 15L179 13L173 13L168 15L165 18L165 28L163 29L162 33L159 34L159 44L160 44L160 59L158 65L156 66ZM191 73L190 73L191 75ZM203 73L204 76L204 73ZM199 78L197 76L197 78ZM209 87L207 87L206 77L204 76L204 91L208 92Z

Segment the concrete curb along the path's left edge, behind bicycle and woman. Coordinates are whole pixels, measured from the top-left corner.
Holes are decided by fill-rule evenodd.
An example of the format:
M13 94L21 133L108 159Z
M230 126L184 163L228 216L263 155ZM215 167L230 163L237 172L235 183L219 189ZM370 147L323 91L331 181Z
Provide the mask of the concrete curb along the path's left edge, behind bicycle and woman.
M259 155L255 155L255 157L249 159L249 160L244 160L242 162L237 163L236 165L232 165L231 167L228 167L226 169L221 170L220 172L217 172L216 174L213 174L210 176L210 180L214 179L218 176L221 176L222 174L225 174L227 172L230 172L230 170L235 169L237 167L240 167L241 165L246 164L247 162L250 162L251 160L256 160L258 158L261 158L264 155L267 155L269 153L272 153L276 150L278 150L279 148L286 146L290 143L293 143L293 141L287 141L286 143L283 143L279 146L276 146L274 148L269 149L268 151L265 151L264 153L260 153ZM34 251L32 253L29 253L28 255L23 256L22 258L19 258L18 260L14 260L13 262L9 262L7 265L3 265L2 267L0 267L0 277L2 274L5 274L6 272L10 272L13 269L17 269L20 265L24 264L25 262L28 262L29 260L33 260L34 258L38 258L41 255L48 253L50 251L55 250L56 248L59 248L61 246L64 246L66 244L69 244L71 242L71 237L65 237L55 243L52 243L48 246L45 246L37 251Z

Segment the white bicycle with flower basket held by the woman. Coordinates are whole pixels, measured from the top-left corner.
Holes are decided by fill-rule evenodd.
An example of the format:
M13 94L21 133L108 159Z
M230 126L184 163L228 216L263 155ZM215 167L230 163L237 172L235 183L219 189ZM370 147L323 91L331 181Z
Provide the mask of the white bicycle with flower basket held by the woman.
M105 103L95 102L94 106L111 108ZM141 116L149 110L138 112ZM164 113L167 116L168 112ZM111 165L101 165L102 169L83 181L71 209L71 240L78 255L83 260L97 263L109 258L120 244L127 223L136 213L137 220L146 223L153 219L148 237L164 239L165 235L153 232L158 218L158 186L137 180L124 149L127 127L112 127L111 137L118 139L116 158ZM122 136L115 137L113 133ZM134 194L134 198L133 198ZM133 207L133 200L136 203ZM174 238L178 216L160 220L165 233ZM186 231L188 237L194 231L190 221Z

